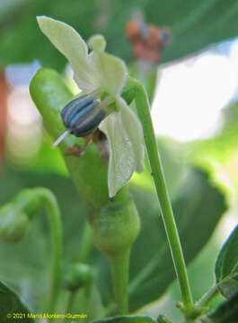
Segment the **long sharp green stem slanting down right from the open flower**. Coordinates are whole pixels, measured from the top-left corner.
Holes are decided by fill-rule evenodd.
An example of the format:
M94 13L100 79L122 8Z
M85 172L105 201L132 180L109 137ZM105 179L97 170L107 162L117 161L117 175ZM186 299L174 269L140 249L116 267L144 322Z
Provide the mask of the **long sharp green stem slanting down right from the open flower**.
M137 91L135 94L137 112L144 129L145 146L151 165L154 185L160 202L163 223L172 253L173 264L181 287L181 297L185 310L189 311L193 308L193 300L190 292L187 268L181 249L181 241L172 214L172 204L163 175L163 166L160 155L158 153L158 148L154 135L154 127L150 116L149 102L144 86L138 82Z

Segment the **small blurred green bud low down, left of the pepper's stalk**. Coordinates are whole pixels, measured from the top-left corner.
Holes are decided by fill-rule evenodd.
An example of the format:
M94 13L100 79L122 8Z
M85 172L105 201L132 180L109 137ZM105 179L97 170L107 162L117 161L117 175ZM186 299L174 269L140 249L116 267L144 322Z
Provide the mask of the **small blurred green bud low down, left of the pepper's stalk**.
M78 288L88 286L93 281L93 269L85 264L72 264L67 267L63 284L66 289L75 291Z

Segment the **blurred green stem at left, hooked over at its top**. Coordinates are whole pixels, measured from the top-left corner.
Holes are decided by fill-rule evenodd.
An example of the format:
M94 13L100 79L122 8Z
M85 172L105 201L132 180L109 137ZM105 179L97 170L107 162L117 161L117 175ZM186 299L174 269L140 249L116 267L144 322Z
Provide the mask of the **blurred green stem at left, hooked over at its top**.
M52 267L49 292L48 313L54 313L59 292L62 257L62 225L56 197L47 188L35 188L41 202L47 206L50 229L52 232Z

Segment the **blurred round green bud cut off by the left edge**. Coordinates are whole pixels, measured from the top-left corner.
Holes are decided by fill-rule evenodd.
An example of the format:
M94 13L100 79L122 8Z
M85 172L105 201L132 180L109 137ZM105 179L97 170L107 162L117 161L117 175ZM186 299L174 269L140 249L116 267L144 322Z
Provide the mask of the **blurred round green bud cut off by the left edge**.
M5 242L22 240L30 227L30 220L13 203L0 208L0 239Z

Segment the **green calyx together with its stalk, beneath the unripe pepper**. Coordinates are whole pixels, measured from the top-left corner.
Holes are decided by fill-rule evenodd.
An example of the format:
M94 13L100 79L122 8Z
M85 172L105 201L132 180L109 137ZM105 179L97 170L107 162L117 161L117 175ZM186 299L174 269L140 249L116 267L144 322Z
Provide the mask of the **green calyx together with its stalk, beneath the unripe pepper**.
M113 290L120 314L128 313L128 267L130 250L140 228L137 208L128 194L110 201L90 221L95 246L110 261Z

